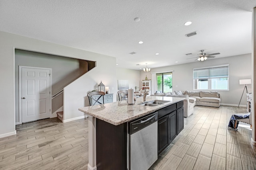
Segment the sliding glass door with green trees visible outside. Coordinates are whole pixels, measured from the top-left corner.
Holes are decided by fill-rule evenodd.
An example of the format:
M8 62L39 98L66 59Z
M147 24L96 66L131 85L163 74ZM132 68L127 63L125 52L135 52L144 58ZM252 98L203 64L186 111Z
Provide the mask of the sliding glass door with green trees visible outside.
M172 92L172 72L156 74L157 91Z

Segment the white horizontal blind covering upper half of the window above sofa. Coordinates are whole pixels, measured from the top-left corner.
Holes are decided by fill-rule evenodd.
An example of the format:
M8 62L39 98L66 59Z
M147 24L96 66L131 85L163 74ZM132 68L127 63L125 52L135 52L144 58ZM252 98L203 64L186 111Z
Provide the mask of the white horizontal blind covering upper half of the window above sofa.
M208 68L194 68L194 79L229 77L229 65L212 66Z

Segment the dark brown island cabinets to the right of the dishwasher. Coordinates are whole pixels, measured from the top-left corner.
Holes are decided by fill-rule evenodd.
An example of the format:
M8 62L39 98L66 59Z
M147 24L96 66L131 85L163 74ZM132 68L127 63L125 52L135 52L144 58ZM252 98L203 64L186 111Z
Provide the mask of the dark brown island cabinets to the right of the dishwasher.
M183 128L183 101L158 110L158 154L170 145Z

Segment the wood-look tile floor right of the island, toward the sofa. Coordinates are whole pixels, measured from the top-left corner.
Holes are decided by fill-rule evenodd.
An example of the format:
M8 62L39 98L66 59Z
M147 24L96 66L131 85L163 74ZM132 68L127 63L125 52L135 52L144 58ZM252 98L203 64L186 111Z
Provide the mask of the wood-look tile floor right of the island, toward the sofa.
M184 129L158 156L150 170L256 170L256 147L250 145L252 129L239 123L227 130L232 114L244 107L195 106L184 118Z

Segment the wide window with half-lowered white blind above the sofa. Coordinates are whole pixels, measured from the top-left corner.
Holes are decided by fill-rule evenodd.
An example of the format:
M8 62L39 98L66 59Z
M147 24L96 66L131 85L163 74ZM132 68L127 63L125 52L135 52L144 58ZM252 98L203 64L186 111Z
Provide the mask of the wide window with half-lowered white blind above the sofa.
M229 65L193 69L194 90L229 90Z

